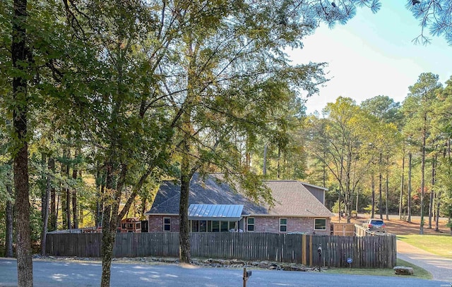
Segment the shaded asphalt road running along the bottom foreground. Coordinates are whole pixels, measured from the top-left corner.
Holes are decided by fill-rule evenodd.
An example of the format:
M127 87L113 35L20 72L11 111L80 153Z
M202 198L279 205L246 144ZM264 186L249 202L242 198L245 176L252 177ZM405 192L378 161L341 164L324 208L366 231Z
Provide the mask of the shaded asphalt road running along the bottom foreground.
M61 262L34 260L34 286L100 286L98 262ZM181 265L112 264L111 286L243 286L243 269L206 268ZM0 259L0 286L17 286L14 259ZM446 287L444 281L408 277L359 276L322 272L253 269L247 287L266 286L410 286Z

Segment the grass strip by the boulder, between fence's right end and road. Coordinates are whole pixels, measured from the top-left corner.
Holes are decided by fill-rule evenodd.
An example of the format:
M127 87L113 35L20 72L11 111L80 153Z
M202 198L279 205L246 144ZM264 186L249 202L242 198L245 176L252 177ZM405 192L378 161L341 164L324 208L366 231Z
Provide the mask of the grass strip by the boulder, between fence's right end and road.
M417 267L414 264L406 262L402 259L397 259L398 266L412 267L414 274L410 278L415 277L418 279L433 278L427 270ZM325 271L329 274L352 274L352 275L371 275L371 276L397 276L405 277L406 275L396 275L393 269L379 269L379 268L332 268Z

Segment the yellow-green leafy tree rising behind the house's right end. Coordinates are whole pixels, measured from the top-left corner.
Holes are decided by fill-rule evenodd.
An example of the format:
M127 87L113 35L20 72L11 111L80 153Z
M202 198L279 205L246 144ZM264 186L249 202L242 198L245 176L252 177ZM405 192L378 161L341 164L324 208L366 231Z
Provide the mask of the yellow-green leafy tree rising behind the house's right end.
M328 119L326 125L311 124L310 150L338 181L345 195L347 221L350 222L352 196L371 162L364 154L369 152L367 140L372 137L367 133L372 125L364 111L349 98L339 97L335 103L327 104L324 112ZM326 147L322 147L322 143ZM323 157L324 151L326 157ZM367 159L362 161L364 158Z

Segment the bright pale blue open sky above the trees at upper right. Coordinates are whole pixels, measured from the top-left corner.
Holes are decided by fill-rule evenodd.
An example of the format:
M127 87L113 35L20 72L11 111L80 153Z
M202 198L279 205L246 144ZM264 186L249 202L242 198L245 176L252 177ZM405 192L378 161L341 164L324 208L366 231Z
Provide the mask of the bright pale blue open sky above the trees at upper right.
M302 49L287 51L294 64L328 63L326 77L331 80L307 100L308 114L321 113L340 96L357 104L378 95L402 103L421 73L439 75L443 85L451 77L452 47L441 37L430 37L427 46L412 42L421 28L405 3L381 0L376 14L358 8L347 24L333 29L321 25L304 39Z

